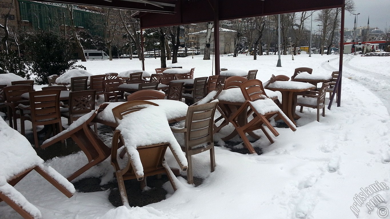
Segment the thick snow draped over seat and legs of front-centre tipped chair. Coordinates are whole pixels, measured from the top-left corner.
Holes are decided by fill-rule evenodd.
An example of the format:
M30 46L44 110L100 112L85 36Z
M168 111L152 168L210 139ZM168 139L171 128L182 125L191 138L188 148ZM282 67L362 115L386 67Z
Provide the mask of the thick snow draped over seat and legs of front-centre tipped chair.
M119 121L117 130L121 131L124 147L138 175L144 175L144 168L137 147L145 145L169 143L181 165L188 166L187 159L169 127L167 114L161 107L150 106L127 114Z

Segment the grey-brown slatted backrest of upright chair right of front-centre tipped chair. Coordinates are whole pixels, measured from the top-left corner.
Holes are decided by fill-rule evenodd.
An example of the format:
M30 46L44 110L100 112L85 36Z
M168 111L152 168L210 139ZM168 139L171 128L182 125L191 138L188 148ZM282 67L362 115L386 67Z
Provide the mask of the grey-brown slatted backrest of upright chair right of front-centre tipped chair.
M184 141L188 150L197 145L214 143L214 114L218 102L193 105L188 107L184 128Z

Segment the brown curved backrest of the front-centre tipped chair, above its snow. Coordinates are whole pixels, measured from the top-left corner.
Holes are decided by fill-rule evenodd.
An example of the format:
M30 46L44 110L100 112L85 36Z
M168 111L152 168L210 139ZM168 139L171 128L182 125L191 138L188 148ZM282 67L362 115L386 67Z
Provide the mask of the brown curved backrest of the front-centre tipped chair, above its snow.
M119 125L118 121L122 120L123 116L126 116L127 114L129 114L131 112L135 112L135 111L144 109L147 107L145 105L158 106L157 103L152 103L150 101L134 100L134 101L122 103L121 105L114 107L112 109L112 113L114 114L115 122L117 123L117 125Z

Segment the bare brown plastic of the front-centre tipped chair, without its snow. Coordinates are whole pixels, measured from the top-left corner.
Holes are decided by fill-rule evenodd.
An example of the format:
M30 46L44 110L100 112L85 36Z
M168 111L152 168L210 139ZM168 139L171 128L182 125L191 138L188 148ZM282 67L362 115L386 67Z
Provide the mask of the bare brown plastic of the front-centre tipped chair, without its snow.
M156 103L152 103L149 101L144 100L136 100L136 101L130 101L127 103L123 103L117 107L114 107L112 109L112 112L115 117L115 121L118 125L119 121L122 120L123 116L128 115L132 112L136 112L138 110L142 110L145 108L145 105L154 105L158 106ZM173 178L175 177L170 170L169 166L164 161L164 155L165 151L167 150L167 147L170 147L170 144L168 143L161 143L161 144L152 144L152 145L137 145L137 151L139 158L141 160L142 166L143 166L143 175L138 174L139 171L135 168L134 163L132 162L132 159L130 159L132 156L136 156L133 153L129 153L126 150L125 151L128 155L128 162L127 165L124 168L121 168L119 166L119 163L117 161L117 153L118 153L118 142L124 142L121 132L119 130L115 130L113 137L112 137L112 147L111 147L111 164L115 168L115 174L117 177L119 192L121 193L121 199L122 203L125 206L128 206L128 197L126 193L126 188L124 186L124 180L129 179L137 179L138 181L144 180L147 176L157 175L161 173L165 173L168 176L168 180L171 183L173 189L176 191L176 185L173 181ZM126 143L124 143L126 144ZM172 150L172 153L174 154L175 158L177 159L177 155ZM178 159L177 159L178 160ZM182 170L186 170L187 166L181 165L180 162L178 162ZM144 183L141 184L141 188L146 186L145 180Z

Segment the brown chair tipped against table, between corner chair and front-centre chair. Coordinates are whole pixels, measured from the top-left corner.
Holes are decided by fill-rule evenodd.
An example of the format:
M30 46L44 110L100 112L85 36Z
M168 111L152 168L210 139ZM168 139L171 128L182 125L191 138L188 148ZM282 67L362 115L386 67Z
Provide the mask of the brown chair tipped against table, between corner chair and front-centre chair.
M107 105L108 103L103 103L99 106L99 108L105 108ZM98 110L96 111L99 112ZM67 180L69 181L75 179L92 166L101 163L111 155L110 148L107 147L107 145L102 142L99 136L97 136L97 134L90 128L90 123L93 122L93 119L96 117L96 115L97 113L91 114L91 116L84 123L74 127L71 130L68 130L65 133L56 135L55 137L51 138L51 140L48 140L48 142L45 142L43 145L41 145L41 148L44 149L58 141L71 137L84 152L85 156L87 156L88 163L67 177Z

